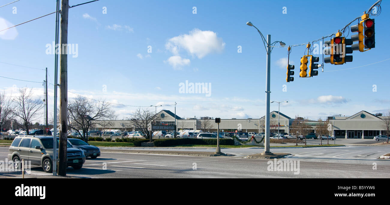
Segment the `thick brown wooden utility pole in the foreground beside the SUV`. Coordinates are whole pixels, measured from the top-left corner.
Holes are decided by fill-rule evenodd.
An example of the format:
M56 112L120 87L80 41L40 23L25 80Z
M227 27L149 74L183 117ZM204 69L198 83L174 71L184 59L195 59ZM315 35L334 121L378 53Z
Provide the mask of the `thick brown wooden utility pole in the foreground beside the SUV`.
M68 9L69 0L61 1L60 24L60 142L58 147L58 175L66 176L67 151L67 45L68 45ZM55 135L54 135L55 136Z

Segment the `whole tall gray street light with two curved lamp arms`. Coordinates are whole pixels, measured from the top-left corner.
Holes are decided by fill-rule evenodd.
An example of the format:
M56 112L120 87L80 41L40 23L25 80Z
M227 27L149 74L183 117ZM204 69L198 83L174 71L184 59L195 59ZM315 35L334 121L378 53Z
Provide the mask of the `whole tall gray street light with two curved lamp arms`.
M246 25L255 27L250 21L246 23ZM255 27L256 28L256 27ZM256 28L259 34L261 35L261 38L263 40L264 46L267 50L267 63L266 63L266 123L265 123L265 145L264 145L264 154L272 154L269 151L269 97L270 97L270 72L271 72L271 47L276 42L280 43L280 46L285 46L286 44L282 41L275 41L271 43L271 35L267 35L267 41L265 42L265 38L263 34L260 32L258 28Z

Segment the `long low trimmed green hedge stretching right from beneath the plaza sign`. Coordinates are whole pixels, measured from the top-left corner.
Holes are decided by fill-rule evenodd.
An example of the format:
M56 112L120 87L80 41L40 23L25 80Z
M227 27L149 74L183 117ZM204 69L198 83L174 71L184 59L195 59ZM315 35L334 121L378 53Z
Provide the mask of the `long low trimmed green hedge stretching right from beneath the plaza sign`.
M155 147L168 147L172 145L217 145L217 139L179 138L179 139L160 139L160 140L154 140L153 142ZM220 145L234 145L234 140L220 139Z

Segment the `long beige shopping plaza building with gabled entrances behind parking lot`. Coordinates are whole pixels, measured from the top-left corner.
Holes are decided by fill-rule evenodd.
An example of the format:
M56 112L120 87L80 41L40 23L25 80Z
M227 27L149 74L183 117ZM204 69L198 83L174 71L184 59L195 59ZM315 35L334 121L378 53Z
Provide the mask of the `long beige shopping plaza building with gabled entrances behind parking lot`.
M157 115L160 117L161 124L174 125L175 116L177 130L202 130L214 132L217 131L217 124L213 117L200 117L183 119L169 110L161 110ZM271 111L270 118L270 130L271 132L277 132L279 127L280 133L291 133L291 124L295 119L278 113L278 111ZM374 136L385 134L385 128L383 127L383 119L389 118L389 116L382 116L381 113L371 114L367 111L360 111L355 115L345 117L328 117L328 121L333 127L333 136L337 138L351 138L351 139L373 139ZM119 129L121 131L137 131L135 127L128 127L129 120L110 120L112 127L103 127L96 125L91 130L103 130L103 129ZM279 121L279 126L278 126ZM219 129L222 132L264 132L265 117L259 119L247 118L247 119L221 119ZM324 121L308 120L305 122L312 127L312 132L319 125L323 125ZM206 128L206 129L205 129ZM172 130L173 131L173 130Z

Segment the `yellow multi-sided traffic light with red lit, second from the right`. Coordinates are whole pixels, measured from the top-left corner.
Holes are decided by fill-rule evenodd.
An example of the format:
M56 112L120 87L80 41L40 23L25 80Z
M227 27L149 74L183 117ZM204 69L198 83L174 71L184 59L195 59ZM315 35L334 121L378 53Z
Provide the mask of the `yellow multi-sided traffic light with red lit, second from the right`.
M342 65L346 62L352 62L352 56L346 55L347 53L352 53L352 47L346 47L352 45L351 39L346 39L341 37L341 33L337 33L336 37L332 38L330 41L325 41L325 45L328 45L324 49L325 55L330 55L330 57L324 58L325 63L331 63L335 65Z

